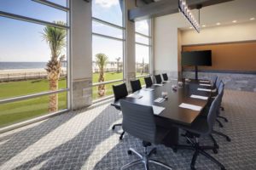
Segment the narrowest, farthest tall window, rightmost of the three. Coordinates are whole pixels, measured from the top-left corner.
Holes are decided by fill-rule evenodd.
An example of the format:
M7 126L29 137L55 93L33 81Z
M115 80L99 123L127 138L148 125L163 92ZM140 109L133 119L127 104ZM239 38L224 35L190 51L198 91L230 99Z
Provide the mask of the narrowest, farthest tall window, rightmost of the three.
M143 77L150 74L151 20L135 22L136 77L144 84Z

